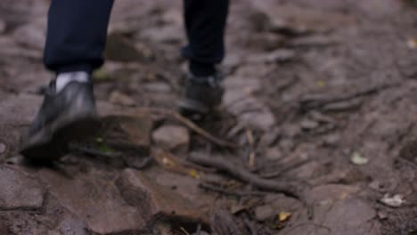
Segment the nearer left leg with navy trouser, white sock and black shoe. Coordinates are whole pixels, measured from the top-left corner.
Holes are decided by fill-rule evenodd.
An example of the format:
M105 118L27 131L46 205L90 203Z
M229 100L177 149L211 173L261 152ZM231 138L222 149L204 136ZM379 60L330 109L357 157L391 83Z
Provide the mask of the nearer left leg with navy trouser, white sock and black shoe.
M45 89L37 117L21 138L20 153L57 159L68 143L92 134L96 124L91 72L102 65L113 0L53 0L44 62L57 76Z

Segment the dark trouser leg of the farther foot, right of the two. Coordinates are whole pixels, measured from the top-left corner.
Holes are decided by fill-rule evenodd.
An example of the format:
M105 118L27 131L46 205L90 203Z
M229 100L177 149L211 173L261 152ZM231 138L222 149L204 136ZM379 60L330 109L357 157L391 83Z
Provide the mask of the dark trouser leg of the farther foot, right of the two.
M184 0L188 45L183 55L195 76L215 73L215 64L225 56L225 22L229 0Z

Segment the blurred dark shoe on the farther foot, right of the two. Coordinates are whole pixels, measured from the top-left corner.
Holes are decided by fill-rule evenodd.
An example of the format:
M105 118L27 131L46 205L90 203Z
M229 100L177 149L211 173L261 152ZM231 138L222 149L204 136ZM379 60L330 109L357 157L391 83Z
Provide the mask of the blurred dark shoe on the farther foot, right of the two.
M189 76L185 80L185 98L178 106L185 116L205 116L222 102L225 89L220 74L210 77Z

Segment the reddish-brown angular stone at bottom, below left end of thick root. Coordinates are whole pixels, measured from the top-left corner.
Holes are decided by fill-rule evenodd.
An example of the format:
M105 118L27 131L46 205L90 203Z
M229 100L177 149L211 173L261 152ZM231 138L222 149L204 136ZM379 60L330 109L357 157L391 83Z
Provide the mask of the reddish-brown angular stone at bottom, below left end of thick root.
M130 207L141 208L143 219L148 225L159 220L208 224L205 215L202 215L190 200L152 182L139 171L123 171L116 185Z

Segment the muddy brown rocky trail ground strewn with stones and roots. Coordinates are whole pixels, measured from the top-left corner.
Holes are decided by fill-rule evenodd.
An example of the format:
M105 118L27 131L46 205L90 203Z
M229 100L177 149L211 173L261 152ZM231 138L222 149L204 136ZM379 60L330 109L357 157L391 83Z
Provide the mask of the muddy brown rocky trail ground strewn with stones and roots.
M1 234L417 234L413 1L233 0L202 133L172 112L181 1L116 1L95 94L140 150L33 165L48 2L0 2Z

